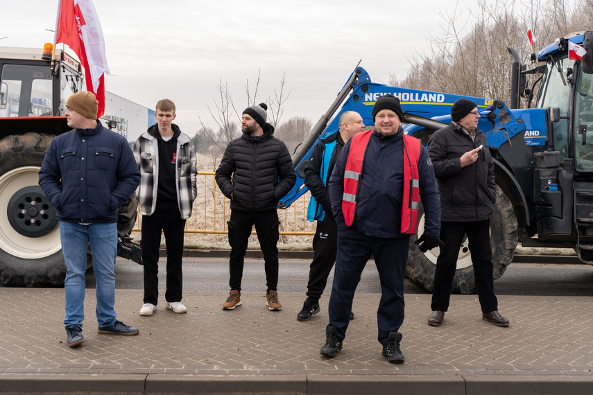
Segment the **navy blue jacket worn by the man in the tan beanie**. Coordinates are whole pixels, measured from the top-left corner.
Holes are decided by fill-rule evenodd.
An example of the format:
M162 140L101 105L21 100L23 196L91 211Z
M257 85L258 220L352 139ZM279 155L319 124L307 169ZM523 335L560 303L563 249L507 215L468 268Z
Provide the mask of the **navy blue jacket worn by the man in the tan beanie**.
M101 123L55 137L39 171L56 217L66 222L117 222L117 209L139 182L130 144Z

